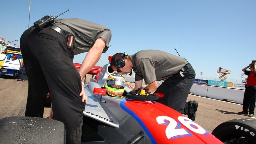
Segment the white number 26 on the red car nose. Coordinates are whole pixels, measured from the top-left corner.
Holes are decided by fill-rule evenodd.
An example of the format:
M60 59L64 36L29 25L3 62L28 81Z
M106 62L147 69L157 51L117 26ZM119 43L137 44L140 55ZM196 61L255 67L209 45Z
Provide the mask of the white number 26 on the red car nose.
M200 125L194 123L192 120L185 116L179 116L178 120L181 124L186 126L190 131L199 134L208 134L208 132ZM180 123L168 116L158 116L156 117L158 124L167 125L165 129L165 134L168 139L175 139L184 136L191 136L192 134L184 128L180 128ZM168 123L169 121L169 123Z

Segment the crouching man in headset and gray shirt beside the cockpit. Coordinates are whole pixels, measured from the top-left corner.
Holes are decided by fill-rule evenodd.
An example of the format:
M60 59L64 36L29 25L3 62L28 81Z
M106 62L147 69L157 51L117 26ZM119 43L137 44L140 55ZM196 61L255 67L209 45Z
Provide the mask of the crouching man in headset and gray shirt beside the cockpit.
M142 50L132 55L116 53L111 59L111 68L117 72L135 72L135 87L142 86L144 79L149 92L164 93L158 101L195 121L198 103L190 100L188 93L195 80L195 71L183 58L158 50ZM157 81L166 79L159 87Z

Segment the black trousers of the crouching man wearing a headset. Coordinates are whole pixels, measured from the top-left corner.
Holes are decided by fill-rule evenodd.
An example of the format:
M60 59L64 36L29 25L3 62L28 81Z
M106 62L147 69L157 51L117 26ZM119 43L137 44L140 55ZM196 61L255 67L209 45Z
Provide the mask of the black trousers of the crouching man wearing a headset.
M185 111L184 108L195 76L194 69L190 67L184 72L180 71L166 79L156 90L156 92L164 93L164 98L159 99L158 102L181 114L188 113L188 107L186 107Z

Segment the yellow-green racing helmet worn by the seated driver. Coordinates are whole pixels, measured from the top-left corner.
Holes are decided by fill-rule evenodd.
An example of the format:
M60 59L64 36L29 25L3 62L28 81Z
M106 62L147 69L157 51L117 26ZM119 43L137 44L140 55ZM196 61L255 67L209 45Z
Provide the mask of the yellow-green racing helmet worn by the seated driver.
M124 93L124 87L125 81L122 75L114 73L108 76L105 88L109 96L121 97Z

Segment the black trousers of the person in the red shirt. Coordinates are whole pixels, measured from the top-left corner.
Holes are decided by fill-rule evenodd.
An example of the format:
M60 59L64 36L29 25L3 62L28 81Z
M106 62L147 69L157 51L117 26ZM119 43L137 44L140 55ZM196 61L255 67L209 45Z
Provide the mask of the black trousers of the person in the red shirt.
M249 114L254 114L256 100L256 87L245 87L244 91L244 101L243 101L243 111Z

